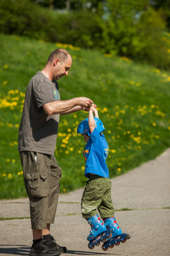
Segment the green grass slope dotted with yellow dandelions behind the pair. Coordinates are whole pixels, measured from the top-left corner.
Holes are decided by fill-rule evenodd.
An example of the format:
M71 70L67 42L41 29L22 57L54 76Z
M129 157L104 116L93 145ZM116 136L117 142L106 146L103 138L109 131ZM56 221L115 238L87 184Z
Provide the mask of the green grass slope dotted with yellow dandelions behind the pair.
M59 45L0 35L0 47L0 198L18 198L26 196L17 151L24 93ZM111 177L154 159L170 146L170 73L97 51L72 46L67 50L73 65L69 76L60 80L61 100L86 96L98 106L106 127ZM86 181L84 139L75 132L86 117L86 112L60 117L56 157L62 166L62 193Z

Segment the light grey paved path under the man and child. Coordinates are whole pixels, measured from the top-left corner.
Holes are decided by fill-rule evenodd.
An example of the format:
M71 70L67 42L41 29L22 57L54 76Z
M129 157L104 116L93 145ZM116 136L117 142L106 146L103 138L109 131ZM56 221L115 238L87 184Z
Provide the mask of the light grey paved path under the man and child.
M109 249L89 250L90 226L81 218L83 188L60 195L51 233L67 256L169 256L170 255L170 149L142 166L112 180L115 218L132 238ZM0 201L0 256L28 255L32 243L28 198ZM18 217L18 219L17 219ZM9 220L8 218L13 218Z

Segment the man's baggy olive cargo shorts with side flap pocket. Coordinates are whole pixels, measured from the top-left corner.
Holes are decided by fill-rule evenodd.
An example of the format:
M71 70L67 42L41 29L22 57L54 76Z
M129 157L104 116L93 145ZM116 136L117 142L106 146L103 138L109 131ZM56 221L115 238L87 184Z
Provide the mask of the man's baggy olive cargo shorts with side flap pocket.
M62 171L55 156L20 151L23 179L30 200L32 229L46 229L54 223Z

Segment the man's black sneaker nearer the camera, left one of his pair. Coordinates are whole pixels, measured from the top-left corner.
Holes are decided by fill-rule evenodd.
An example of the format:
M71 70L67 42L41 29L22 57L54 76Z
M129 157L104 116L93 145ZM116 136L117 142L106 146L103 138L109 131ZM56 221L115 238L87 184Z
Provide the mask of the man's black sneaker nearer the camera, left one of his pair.
M58 256L60 255L60 250L54 248L54 243L52 241L47 242L43 238L36 245L32 245L30 249L30 256Z

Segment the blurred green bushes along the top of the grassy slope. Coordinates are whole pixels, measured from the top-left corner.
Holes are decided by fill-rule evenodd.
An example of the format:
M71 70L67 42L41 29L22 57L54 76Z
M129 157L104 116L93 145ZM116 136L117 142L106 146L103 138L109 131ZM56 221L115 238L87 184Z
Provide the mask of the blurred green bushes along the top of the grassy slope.
M0 32L43 41L95 48L137 61L170 68L170 43L164 40L162 12L148 0L108 0L102 12L77 11L60 14L30 0L0 1Z

